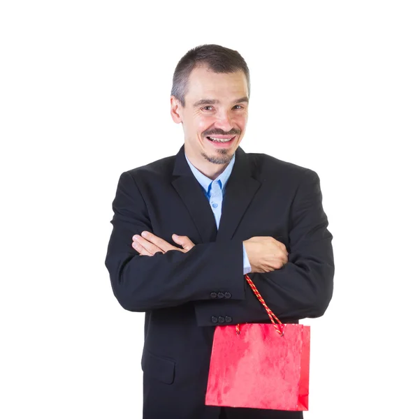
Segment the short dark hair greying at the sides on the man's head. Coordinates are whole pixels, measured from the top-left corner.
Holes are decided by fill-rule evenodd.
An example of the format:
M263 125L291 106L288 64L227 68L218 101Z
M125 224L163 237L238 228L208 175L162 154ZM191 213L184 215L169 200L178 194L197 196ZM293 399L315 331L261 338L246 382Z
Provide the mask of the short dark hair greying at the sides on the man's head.
M251 90L249 83L249 68L245 59L236 50L221 45L205 44L189 50L178 62L173 73L171 96L175 96L182 106L185 106L185 95L188 90L188 80L191 71L196 66L206 65L215 73L235 73L243 71L247 78L248 97Z

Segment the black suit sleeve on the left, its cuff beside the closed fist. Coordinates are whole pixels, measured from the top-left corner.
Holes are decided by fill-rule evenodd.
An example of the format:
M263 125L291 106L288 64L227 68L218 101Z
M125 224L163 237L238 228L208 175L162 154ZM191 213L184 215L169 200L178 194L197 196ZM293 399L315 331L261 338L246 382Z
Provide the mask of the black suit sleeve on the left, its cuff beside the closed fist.
M129 172L119 177L113 200L113 230L105 265L113 293L124 309L149 311L219 295L245 298L242 241L196 244L183 253L173 250L140 256L132 236L152 232L147 206ZM172 239L162 237L171 244Z

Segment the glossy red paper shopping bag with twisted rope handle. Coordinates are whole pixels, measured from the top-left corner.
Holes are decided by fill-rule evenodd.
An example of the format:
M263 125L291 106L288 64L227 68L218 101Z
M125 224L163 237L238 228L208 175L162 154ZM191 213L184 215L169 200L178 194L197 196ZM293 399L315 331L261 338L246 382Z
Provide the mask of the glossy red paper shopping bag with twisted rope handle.
M205 404L306 411L310 326L282 324L245 279L271 323L215 328Z

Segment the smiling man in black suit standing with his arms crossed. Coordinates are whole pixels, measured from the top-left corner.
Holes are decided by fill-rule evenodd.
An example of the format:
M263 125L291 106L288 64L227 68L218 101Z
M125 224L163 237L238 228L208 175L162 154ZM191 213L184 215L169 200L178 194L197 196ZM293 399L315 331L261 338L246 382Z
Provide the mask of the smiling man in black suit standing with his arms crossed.
M184 145L119 178L106 267L122 307L146 312L145 419L303 417L205 406L215 327L269 323L245 273L286 323L322 316L333 291L319 177L239 147L248 101L238 52L189 50L171 93Z

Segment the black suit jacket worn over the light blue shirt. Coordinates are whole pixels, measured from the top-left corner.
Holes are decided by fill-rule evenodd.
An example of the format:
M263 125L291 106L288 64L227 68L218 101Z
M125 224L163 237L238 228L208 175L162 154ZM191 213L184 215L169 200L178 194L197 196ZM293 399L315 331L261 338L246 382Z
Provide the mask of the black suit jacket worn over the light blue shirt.
M122 307L146 312L144 418L218 418L218 407L204 405L215 326L269 323L243 276L243 240L272 236L287 247L280 270L249 274L282 321L324 314L334 264L321 200L316 172L238 147L217 231L183 145L176 156L120 175L105 263ZM140 256L131 242L143 230L175 246L173 233L187 235L196 245ZM261 413L253 417L301 417Z

